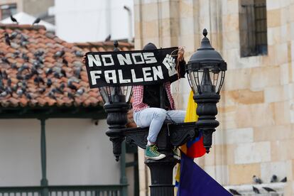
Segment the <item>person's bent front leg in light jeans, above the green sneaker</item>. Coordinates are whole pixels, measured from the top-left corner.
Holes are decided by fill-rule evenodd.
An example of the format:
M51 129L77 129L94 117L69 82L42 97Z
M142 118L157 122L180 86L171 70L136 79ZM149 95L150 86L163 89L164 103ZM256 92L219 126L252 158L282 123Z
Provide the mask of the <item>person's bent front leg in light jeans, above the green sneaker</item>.
M166 118L166 110L150 107L134 113L134 121L140 127L149 126L147 140L154 144Z

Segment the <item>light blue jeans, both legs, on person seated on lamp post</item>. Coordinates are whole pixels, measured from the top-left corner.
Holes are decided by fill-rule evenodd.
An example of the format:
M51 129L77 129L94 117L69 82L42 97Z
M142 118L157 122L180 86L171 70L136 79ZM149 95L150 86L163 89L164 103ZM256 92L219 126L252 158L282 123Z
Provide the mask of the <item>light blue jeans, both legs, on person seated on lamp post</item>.
M186 111L182 110L168 110L149 107L141 111L134 112L134 121L137 126L146 127L149 126L149 133L147 140L154 143L156 142L158 133L163 126L165 119L173 121L175 123L184 122Z

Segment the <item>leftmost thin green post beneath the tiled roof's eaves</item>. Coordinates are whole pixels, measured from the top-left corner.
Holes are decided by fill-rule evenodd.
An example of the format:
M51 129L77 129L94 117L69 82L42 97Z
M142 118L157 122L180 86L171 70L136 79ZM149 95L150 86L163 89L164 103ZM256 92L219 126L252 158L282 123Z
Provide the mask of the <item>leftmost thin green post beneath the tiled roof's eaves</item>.
M40 153L41 153L41 167L42 179L40 185L43 187L41 192L42 196L48 196L48 180L46 178L46 137L45 137L45 119L40 119L41 123L41 136L40 136Z

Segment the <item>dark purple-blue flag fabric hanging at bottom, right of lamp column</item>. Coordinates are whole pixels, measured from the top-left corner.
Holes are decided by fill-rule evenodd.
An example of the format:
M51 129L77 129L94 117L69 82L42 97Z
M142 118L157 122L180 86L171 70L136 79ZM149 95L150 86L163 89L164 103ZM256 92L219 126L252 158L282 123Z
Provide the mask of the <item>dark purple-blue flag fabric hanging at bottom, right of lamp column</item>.
M232 195L219 185L205 170L202 170L192 158L185 153L180 160L180 185L178 196L228 196Z

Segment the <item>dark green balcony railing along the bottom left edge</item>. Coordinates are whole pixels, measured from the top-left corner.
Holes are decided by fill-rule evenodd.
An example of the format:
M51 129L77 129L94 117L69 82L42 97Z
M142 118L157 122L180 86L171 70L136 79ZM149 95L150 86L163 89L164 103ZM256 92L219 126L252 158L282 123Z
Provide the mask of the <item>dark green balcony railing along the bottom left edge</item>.
M0 196L123 196L127 185L0 187Z

